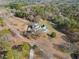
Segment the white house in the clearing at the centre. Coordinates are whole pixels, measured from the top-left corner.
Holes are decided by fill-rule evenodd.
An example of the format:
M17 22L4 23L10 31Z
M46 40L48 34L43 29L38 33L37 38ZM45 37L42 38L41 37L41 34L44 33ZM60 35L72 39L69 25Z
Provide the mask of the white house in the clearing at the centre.
M31 32L48 32L48 28L45 25L40 25L38 23L32 23L29 27L28 27L28 31Z

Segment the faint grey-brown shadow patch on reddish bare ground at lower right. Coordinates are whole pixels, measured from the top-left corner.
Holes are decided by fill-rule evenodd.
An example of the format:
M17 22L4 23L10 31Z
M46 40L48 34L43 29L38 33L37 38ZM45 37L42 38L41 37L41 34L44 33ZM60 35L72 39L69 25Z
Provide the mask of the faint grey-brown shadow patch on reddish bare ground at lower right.
M61 44L53 44L53 45L56 50L59 50L61 52L71 53L75 51L74 45L68 42Z

